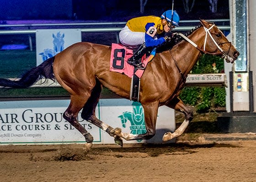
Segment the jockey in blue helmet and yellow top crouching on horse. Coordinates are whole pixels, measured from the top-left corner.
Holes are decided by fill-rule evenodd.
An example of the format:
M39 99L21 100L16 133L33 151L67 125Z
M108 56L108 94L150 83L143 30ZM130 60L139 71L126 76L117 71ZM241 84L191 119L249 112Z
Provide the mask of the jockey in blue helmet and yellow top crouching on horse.
M139 50L128 59L128 64L135 66L137 69L145 69L139 63L141 58L150 47L161 45L171 38L168 36L157 37L164 31L170 32L179 25L180 17L176 11L167 10L161 17L142 16L128 20L125 27L119 33L119 40L123 45L128 47L139 47Z

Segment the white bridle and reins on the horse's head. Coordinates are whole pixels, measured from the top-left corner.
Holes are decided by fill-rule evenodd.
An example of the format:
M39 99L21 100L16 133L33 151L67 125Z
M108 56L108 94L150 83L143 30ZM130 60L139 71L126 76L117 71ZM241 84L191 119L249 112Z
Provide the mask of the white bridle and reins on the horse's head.
M211 35L210 31L213 27L215 26L215 24L213 24L210 28L206 28L204 25L203 25L203 29L205 30L205 38L204 38L204 44L203 44L203 49L201 49L196 43L194 43L192 40L190 40L187 36L181 34L181 33L173 33L174 35L180 35L184 40L187 40L191 45L193 45L194 47L196 47L202 54L211 54L211 55L216 55L216 56L221 56L221 58L223 58L224 60L227 59L228 55L229 55L229 51L230 51L230 48L231 48L231 42L224 42L224 43L220 43L218 44L216 42L216 40L214 40L213 38L213 35ZM206 47L206 43L207 43L207 38L208 38L208 35L209 37L213 40L213 43L216 45L217 49L220 51L220 52L208 52L205 50L205 47ZM219 46L219 45L222 45L222 44L229 44L229 50L227 52L223 51L222 48Z

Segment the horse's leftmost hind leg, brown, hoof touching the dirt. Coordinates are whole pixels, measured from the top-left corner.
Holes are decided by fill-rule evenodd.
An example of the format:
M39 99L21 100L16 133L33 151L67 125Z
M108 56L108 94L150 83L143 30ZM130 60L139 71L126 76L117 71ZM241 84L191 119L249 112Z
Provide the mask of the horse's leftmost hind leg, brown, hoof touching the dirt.
M83 96L79 95L71 95L70 104L67 110L64 112L63 117L65 120L69 121L69 123L74 126L80 133L85 136L85 144L86 149L91 149L93 137L91 134L85 130L85 128L77 121L77 115L79 111L82 109L86 102L86 99Z

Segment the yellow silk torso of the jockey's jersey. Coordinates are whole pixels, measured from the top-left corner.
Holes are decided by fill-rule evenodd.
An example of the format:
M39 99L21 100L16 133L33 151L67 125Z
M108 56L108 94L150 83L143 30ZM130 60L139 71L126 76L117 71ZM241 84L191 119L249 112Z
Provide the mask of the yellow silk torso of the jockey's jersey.
M161 34L164 31L162 25L162 19L157 16L141 16L128 20L127 26L131 31L134 32L146 32L145 26L147 23L155 23L157 34Z

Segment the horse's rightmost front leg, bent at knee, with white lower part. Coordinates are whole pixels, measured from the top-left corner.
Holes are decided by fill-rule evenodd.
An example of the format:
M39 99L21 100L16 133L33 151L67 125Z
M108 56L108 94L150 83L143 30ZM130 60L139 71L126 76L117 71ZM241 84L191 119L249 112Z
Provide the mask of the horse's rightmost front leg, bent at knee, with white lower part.
M188 108L180 98L175 97L171 102L166 104L166 106L171 107L172 109L175 109L177 111L181 111L185 115L185 120L182 122L181 126L176 129L173 133L167 132L163 136L163 141L169 141L177 136L181 136L183 132L186 130L188 124L193 119L193 111L192 109Z

